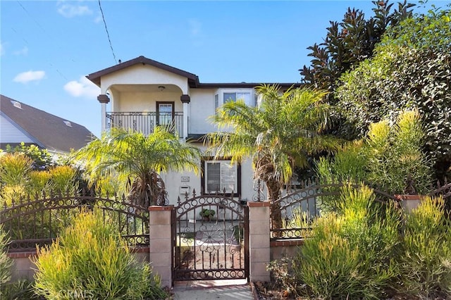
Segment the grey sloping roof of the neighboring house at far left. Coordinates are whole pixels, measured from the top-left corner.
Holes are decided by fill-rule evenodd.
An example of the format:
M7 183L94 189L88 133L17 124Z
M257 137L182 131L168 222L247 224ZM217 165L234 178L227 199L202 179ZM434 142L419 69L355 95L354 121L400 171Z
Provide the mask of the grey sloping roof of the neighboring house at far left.
M56 152L78 150L94 135L82 125L0 95L0 113L37 146ZM2 141L8 144L8 141ZM6 144L2 144L4 147ZM13 144L13 143L10 143Z

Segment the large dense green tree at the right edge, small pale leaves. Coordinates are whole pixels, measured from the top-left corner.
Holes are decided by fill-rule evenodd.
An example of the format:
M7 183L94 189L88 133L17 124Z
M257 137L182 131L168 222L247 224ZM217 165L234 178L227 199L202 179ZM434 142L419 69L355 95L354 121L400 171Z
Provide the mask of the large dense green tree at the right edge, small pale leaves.
M431 10L392 28L373 58L340 79L335 91L355 133L370 123L393 121L404 108L418 108L424 147L443 178L451 165L451 11Z

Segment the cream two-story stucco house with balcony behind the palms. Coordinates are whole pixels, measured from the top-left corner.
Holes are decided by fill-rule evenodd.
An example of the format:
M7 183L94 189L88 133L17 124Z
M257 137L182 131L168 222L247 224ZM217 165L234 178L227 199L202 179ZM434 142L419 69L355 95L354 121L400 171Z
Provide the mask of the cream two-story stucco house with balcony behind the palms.
M199 77L140 56L87 75L101 88L97 97L101 104L102 132L111 127L140 130L149 134L157 125L173 124L181 139L202 146L202 137L217 128L207 120L216 108L230 100L244 99L250 106L257 105L254 87L259 83L202 83ZM278 83L288 89L295 83ZM111 101L111 111L106 105ZM168 187L168 199L175 204L193 192L213 194L221 192L239 194L242 199L252 199L254 182L252 162L230 165L223 159L213 161L204 157L202 173L168 173L163 180ZM171 188L172 187L172 188Z

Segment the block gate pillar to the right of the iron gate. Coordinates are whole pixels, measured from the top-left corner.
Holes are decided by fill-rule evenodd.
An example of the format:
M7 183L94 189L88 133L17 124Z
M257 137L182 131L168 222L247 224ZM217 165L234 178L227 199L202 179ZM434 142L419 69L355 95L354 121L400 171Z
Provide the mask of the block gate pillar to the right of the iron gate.
M247 202L249 206L249 280L270 281L269 202Z

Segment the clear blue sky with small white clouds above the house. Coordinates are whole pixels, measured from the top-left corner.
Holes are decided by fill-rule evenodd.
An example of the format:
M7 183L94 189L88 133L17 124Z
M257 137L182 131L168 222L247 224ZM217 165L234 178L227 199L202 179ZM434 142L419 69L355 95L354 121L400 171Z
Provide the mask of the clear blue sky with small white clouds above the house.
M322 42L329 20L342 20L349 6L373 15L371 1L100 4L111 46L97 0L1 0L1 94L99 137L99 88L85 75L119 59L146 56L201 82L299 82L307 47Z

